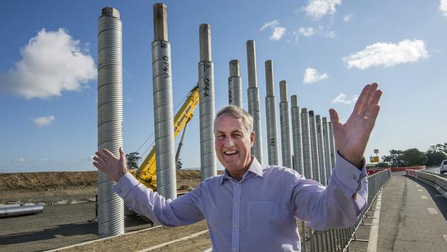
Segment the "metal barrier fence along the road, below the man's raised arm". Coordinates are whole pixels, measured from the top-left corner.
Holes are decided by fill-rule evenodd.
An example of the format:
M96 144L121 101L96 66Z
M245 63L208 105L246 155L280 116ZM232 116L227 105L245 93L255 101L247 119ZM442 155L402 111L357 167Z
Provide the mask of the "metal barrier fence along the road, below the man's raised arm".
M358 227L360 227L360 224L363 223L365 213L371 208L373 200L378 196L390 177L390 169L368 176L367 208L363 212L362 218L359 218L353 227L313 231L307 227L307 224L303 224L301 230L301 251L346 251L349 243L353 240L357 240L356 231ZM309 233L310 235L306 237L306 233Z

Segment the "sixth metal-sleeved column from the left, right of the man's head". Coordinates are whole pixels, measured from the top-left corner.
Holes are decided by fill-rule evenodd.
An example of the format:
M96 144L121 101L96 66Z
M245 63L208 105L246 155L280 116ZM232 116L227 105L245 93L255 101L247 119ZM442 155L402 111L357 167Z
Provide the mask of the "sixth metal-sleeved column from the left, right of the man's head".
M267 118L268 164L279 165L278 162L278 135L276 129L276 98L273 87L273 62L265 61L265 118Z

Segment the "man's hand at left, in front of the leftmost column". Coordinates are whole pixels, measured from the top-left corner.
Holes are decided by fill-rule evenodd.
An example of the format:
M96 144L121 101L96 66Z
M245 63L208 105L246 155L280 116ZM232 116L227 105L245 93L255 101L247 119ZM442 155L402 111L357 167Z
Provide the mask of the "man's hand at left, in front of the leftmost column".
M93 157L93 165L104 172L113 181L118 182L122 176L127 174L126 155L120 147L120 158L116 158L108 149L96 151Z

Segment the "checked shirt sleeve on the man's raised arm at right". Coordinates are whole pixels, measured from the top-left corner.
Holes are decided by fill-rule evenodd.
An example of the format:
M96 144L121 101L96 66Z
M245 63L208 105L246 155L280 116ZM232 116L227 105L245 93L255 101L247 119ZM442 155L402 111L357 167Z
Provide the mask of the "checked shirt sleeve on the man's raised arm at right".
M351 227L367 207L367 172L362 163L360 170L337 153L327 187L297 177L292 195L296 218L316 230Z

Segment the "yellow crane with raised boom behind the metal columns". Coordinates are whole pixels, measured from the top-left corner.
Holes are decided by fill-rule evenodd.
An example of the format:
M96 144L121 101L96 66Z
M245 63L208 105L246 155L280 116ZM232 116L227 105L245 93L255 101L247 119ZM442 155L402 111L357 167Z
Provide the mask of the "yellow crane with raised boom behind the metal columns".
M186 131L186 126L188 125L191 118L193 118L193 112L195 107L199 104L199 85L193 87L193 89L189 92L186 97L186 101L179 109L177 114L174 117L174 138L177 138L179 132L184 129L182 134L182 140L184 133ZM177 165L177 158L179 156L179 151L182 148L182 140L179 143L179 147L177 149L177 154L175 155L175 164ZM129 171L138 181L140 181L146 187L153 189L154 191L157 189L157 165L155 162L155 148L153 146L149 154L146 156L144 161L141 163L138 169L134 169Z

